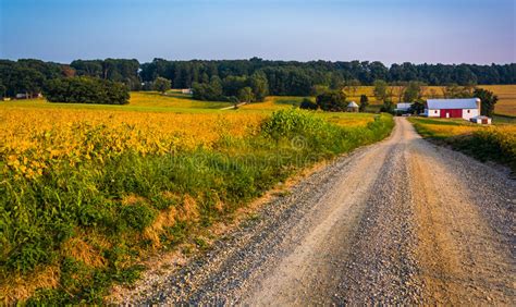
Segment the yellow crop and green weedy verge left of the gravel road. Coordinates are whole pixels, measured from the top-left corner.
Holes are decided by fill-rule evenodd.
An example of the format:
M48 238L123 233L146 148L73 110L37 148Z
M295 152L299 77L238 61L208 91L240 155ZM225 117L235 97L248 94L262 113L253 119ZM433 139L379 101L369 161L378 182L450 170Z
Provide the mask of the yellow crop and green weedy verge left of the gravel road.
M393 127L386 114L15 103L0 114L4 304L100 304L137 279L145 255Z

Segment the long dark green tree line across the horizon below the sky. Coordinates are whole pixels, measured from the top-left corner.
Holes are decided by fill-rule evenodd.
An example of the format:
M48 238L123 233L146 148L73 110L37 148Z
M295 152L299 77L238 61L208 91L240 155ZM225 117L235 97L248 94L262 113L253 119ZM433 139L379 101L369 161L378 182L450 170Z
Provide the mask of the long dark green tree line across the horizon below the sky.
M39 60L0 60L0 95L42 91L47 81L87 76L123 83L130 90L153 88L165 78L172 88L195 88L197 99L237 98L257 101L267 95L308 96L320 88L342 89L373 85L419 82L427 85L516 84L516 64L392 64L373 61L168 61L155 59L75 60L70 64ZM147 85L147 86L146 86Z

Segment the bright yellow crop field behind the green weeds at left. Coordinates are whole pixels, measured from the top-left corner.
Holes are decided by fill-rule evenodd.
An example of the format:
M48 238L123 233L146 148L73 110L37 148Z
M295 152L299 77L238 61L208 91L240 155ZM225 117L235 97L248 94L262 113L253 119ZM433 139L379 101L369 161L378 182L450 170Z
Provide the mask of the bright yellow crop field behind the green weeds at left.
M41 175L52 162L102 160L210 148L221 136L253 134L259 113L170 114L71 109L5 108L0 114L0 157L21 175Z

